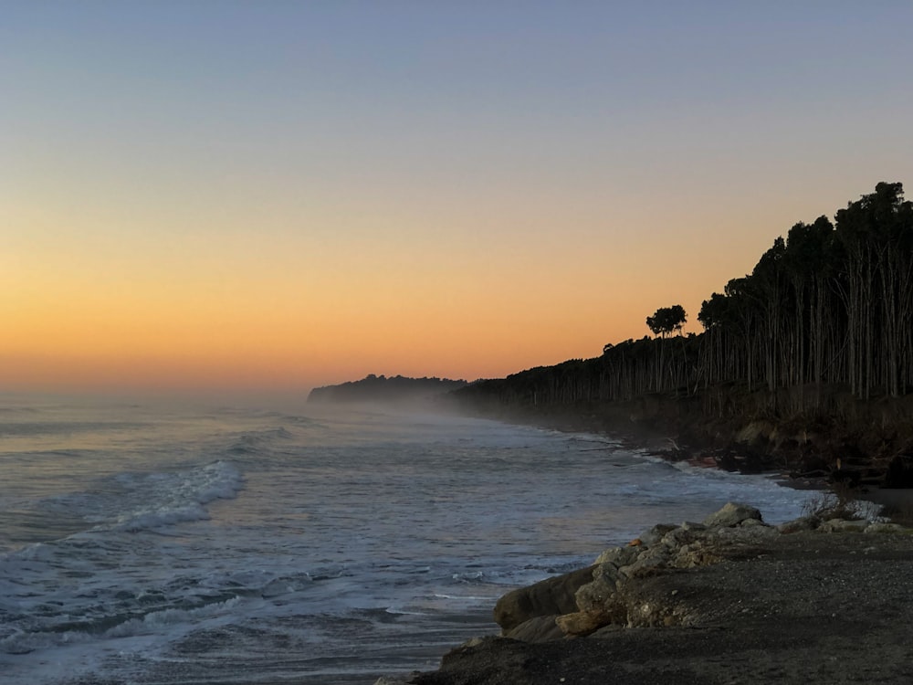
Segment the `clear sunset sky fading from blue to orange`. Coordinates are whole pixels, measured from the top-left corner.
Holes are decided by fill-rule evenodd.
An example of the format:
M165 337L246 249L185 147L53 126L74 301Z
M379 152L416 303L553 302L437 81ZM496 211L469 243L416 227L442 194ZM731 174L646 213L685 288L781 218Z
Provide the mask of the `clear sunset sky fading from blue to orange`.
M913 3L0 0L0 389L602 353L879 181Z

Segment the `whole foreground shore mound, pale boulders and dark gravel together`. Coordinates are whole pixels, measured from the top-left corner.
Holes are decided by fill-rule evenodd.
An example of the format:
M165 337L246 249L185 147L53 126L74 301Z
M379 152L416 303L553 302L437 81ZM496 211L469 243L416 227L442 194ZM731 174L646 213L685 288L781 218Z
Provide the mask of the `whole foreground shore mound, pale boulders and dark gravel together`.
M906 682L913 535L839 513L771 527L730 503L657 525L502 597L501 635L378 683Z

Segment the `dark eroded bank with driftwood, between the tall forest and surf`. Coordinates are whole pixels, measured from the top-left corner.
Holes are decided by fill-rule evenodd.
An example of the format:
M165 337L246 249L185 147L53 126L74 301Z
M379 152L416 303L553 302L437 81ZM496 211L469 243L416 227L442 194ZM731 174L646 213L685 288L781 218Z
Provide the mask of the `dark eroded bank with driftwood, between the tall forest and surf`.
M913 488L913 395L855 399L845 389L770 393L719 386L625 402L488 405L473 413L605 433L665 458L849 485Z

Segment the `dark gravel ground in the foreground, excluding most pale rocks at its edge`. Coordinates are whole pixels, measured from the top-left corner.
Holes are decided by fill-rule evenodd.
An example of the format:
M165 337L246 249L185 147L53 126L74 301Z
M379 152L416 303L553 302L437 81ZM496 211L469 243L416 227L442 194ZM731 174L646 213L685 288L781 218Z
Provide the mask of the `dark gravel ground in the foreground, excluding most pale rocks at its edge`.
M484 638L405 682L908 682L913 536L768 530L717 547L718 563L626 581L629 625L641 627L616 622L588 637L552 630L535 642Z

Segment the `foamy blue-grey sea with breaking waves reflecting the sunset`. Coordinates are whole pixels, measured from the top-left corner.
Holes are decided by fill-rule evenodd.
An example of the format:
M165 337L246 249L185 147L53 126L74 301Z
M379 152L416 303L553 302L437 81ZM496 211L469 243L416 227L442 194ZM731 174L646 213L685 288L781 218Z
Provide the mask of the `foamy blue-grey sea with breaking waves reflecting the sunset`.
M499 595L807 493L611 437L382 409L0 398L0 681L372 683Z

